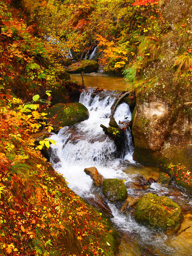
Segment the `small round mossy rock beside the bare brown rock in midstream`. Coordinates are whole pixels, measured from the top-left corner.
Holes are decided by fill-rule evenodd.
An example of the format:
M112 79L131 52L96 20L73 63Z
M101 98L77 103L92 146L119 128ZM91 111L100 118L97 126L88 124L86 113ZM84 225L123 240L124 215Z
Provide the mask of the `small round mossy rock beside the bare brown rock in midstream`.
M123 180L105 179L102 192L111 202L124 201L127 198L127 190Z

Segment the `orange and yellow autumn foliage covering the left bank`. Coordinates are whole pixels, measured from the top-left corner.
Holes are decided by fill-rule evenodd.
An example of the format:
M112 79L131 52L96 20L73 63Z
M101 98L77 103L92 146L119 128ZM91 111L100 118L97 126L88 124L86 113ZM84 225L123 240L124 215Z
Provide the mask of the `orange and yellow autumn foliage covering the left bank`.
M0 2L0 254L113 255L108 221L68 188L32 137L52 130L42 112L48 102L34 92L50 81L62 86L63 68L57 47L10 4ZM20 90L23 99L13 94Z

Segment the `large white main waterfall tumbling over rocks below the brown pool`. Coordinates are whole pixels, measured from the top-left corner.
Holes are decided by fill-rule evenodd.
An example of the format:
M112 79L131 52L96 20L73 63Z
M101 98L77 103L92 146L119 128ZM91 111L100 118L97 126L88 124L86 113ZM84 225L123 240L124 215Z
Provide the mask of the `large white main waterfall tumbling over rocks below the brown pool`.
M95 166L105 178L126 179L126 175L118 167L121 159L115 157L117 150L115 143L100 127L101 123L105 126L109 125L114 99L114 92L95 93L93 88L82 91L79 102L88 108L89 119L74 126L63 127L57 135L52 136L56 146L51 146L51 162L58 172L66 177L69 187L81 196L90 193L93 183L92 179L83 172L86 167ZM120 104L114 118L117 122L125 120L124 118L131 120L129 105ZM127 134L130 134L130 131L127 131ZM128 151L127 146L126 154ZM132 152L129 153L131 160Z

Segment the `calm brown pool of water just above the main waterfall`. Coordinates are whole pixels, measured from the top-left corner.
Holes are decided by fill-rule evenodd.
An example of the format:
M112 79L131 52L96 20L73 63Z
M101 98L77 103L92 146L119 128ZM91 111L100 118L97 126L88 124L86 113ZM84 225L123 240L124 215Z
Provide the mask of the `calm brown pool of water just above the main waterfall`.
M71 74L71 80L82 84L80 74ZM99 87L110 91L126 91L127 86L122 77L109 76L99 73L91 73L84 75L84 85L86 87Z

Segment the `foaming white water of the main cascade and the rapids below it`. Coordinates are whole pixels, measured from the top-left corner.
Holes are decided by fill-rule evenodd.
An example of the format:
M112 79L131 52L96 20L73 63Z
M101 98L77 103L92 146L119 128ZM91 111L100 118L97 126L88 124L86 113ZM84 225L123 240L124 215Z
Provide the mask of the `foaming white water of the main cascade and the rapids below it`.
M51 162L54 168L63 174L69 183L68 186L84 198L95 197L93 181L90 176L83 172L86 167L95 166L104 178L124 179L126 185L134 183L138 175L138 173L127 174L124 172L124 165L129 164L126 163L126 160L130 164L136 164L132 158L134 147L131 132L129 130L125 132L125 156L124 159L118 159L115 156L116 146L114 142L104 134L100 127L101 123L105 126L109 124L114 97L113 92L94 93L93 88L89 91L83 91L79 102L87 106L90 113L89 119L71 127L63 127L57 135L54 134L51 138L56 141L56 146L51 146ZM131 120L129 106L125 103L120 104L114 118L117 122L119 120ZM178 197L174 195L173 191L175 191L175 187L167 188L158 183L152 183L146 190L127 188L128 195L133 198L151 192L159 196L169 196L181 204L183 202L192 204L192 200L189 201L184 193L179 191L180 197ZM138 224L131 213L129 215L120 214L117 207L112 203L108 202L108 205L113 214L112 221L121 231L129 234L133 240L136 239L141 249L155 247L155 250L161 251L160 254L155 255L187 255L184 252L177 254L177 249L168 246L168 238L165 234L157 233Z

